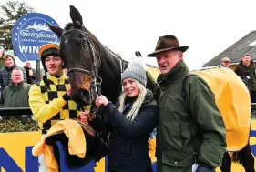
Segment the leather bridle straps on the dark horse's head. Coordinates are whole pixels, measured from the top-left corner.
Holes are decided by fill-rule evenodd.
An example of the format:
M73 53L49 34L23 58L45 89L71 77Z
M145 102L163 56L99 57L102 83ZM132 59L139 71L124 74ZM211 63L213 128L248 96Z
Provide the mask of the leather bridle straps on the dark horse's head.
M98 58L99 59L99 62L100 62L100 55L99 55L99 52L97 50L97 46L95 46L94 42L91 40L91 38L88 36L88 33L84 30L81 30L81 29L69 29L65 32L62 33L62 35L60 35L60 37L62 37L63 35L67 35L67 33L70 33L70 32L79 32L83 35L85 35L85 37L81 38L81 39L77 39L77 41L80 42L80 51L83 51L84 49L84 45L87 44L88 46L88 49L90 51L90 54L92 55L93 57L93 72L87 70L87 69L83 69L83 68L70 68L67 70L67 76L70 74L70 73L73 73L73 72L81 72L81 73L84 73L88 76L92 76L92 81L91 81L91 84L90 84L90 90L94 89L96 95L98 96L101 96L101 83L102 83L102 79L100 76L98 76L98 68L97 68L97 64L96 64L96 59ZM91 46L93 45L93 46ZM81 63L82 65L84 64L83 62L83 59L81 58ZM95 101L96 97L93 97L92 98L93 101ZM81 106L81 109L82 111L84 111L84 108L83 106ZM95 109L93 109L92 111L92 116L96 116L96 113L98 111L98 108L96 107Z

